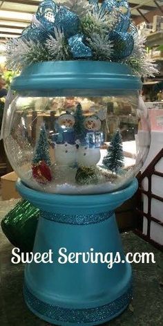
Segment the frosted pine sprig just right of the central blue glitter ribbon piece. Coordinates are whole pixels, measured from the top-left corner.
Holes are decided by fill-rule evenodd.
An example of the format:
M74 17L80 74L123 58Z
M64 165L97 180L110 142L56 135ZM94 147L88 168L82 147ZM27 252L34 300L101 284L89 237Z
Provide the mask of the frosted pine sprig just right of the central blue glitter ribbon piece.
M108 35L93 33L93 35L86 40L93 51L94 60L111 60L111 55L113 54L113 42L110 41Z

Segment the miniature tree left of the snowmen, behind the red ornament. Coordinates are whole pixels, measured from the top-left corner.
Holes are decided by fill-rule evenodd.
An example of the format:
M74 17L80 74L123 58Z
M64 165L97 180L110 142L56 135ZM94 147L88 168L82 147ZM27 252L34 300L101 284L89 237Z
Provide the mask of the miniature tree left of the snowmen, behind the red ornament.
M51 164L50 155L49 155L48 137L44 125L41 126L39 139L35 147L35 153L32 159L32 163L37 164L40 161L44 161L48 166L50 166Z

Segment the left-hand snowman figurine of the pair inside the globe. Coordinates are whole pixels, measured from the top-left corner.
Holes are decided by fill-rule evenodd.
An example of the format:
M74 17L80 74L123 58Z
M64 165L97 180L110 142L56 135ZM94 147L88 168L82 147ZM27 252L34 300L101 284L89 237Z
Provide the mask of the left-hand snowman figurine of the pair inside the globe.
M71 114L59 116L55 125L56 134L53 136L55 144L55 163L74 167L77 161L77 146L73 126L75 118Z

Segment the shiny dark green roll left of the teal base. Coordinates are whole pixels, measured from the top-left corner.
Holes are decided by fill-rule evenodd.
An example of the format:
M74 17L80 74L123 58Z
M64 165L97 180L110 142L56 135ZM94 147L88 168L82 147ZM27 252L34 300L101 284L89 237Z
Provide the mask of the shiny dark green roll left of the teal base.
M21 199L1 221L1 228L13 246L21 252L32 251L35 241L39 209Z

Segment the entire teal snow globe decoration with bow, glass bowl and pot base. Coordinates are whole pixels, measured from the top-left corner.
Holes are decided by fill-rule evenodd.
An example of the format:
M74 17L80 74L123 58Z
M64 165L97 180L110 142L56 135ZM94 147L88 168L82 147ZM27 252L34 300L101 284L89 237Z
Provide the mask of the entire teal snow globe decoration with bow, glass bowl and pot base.
M40 210L33 254L52 255L27 264L26 304L55 325L105 323L132 298L114 210L148 154L140 76L155 65L124 0L41 1L7 53L21 73L3 141L17 189Z

